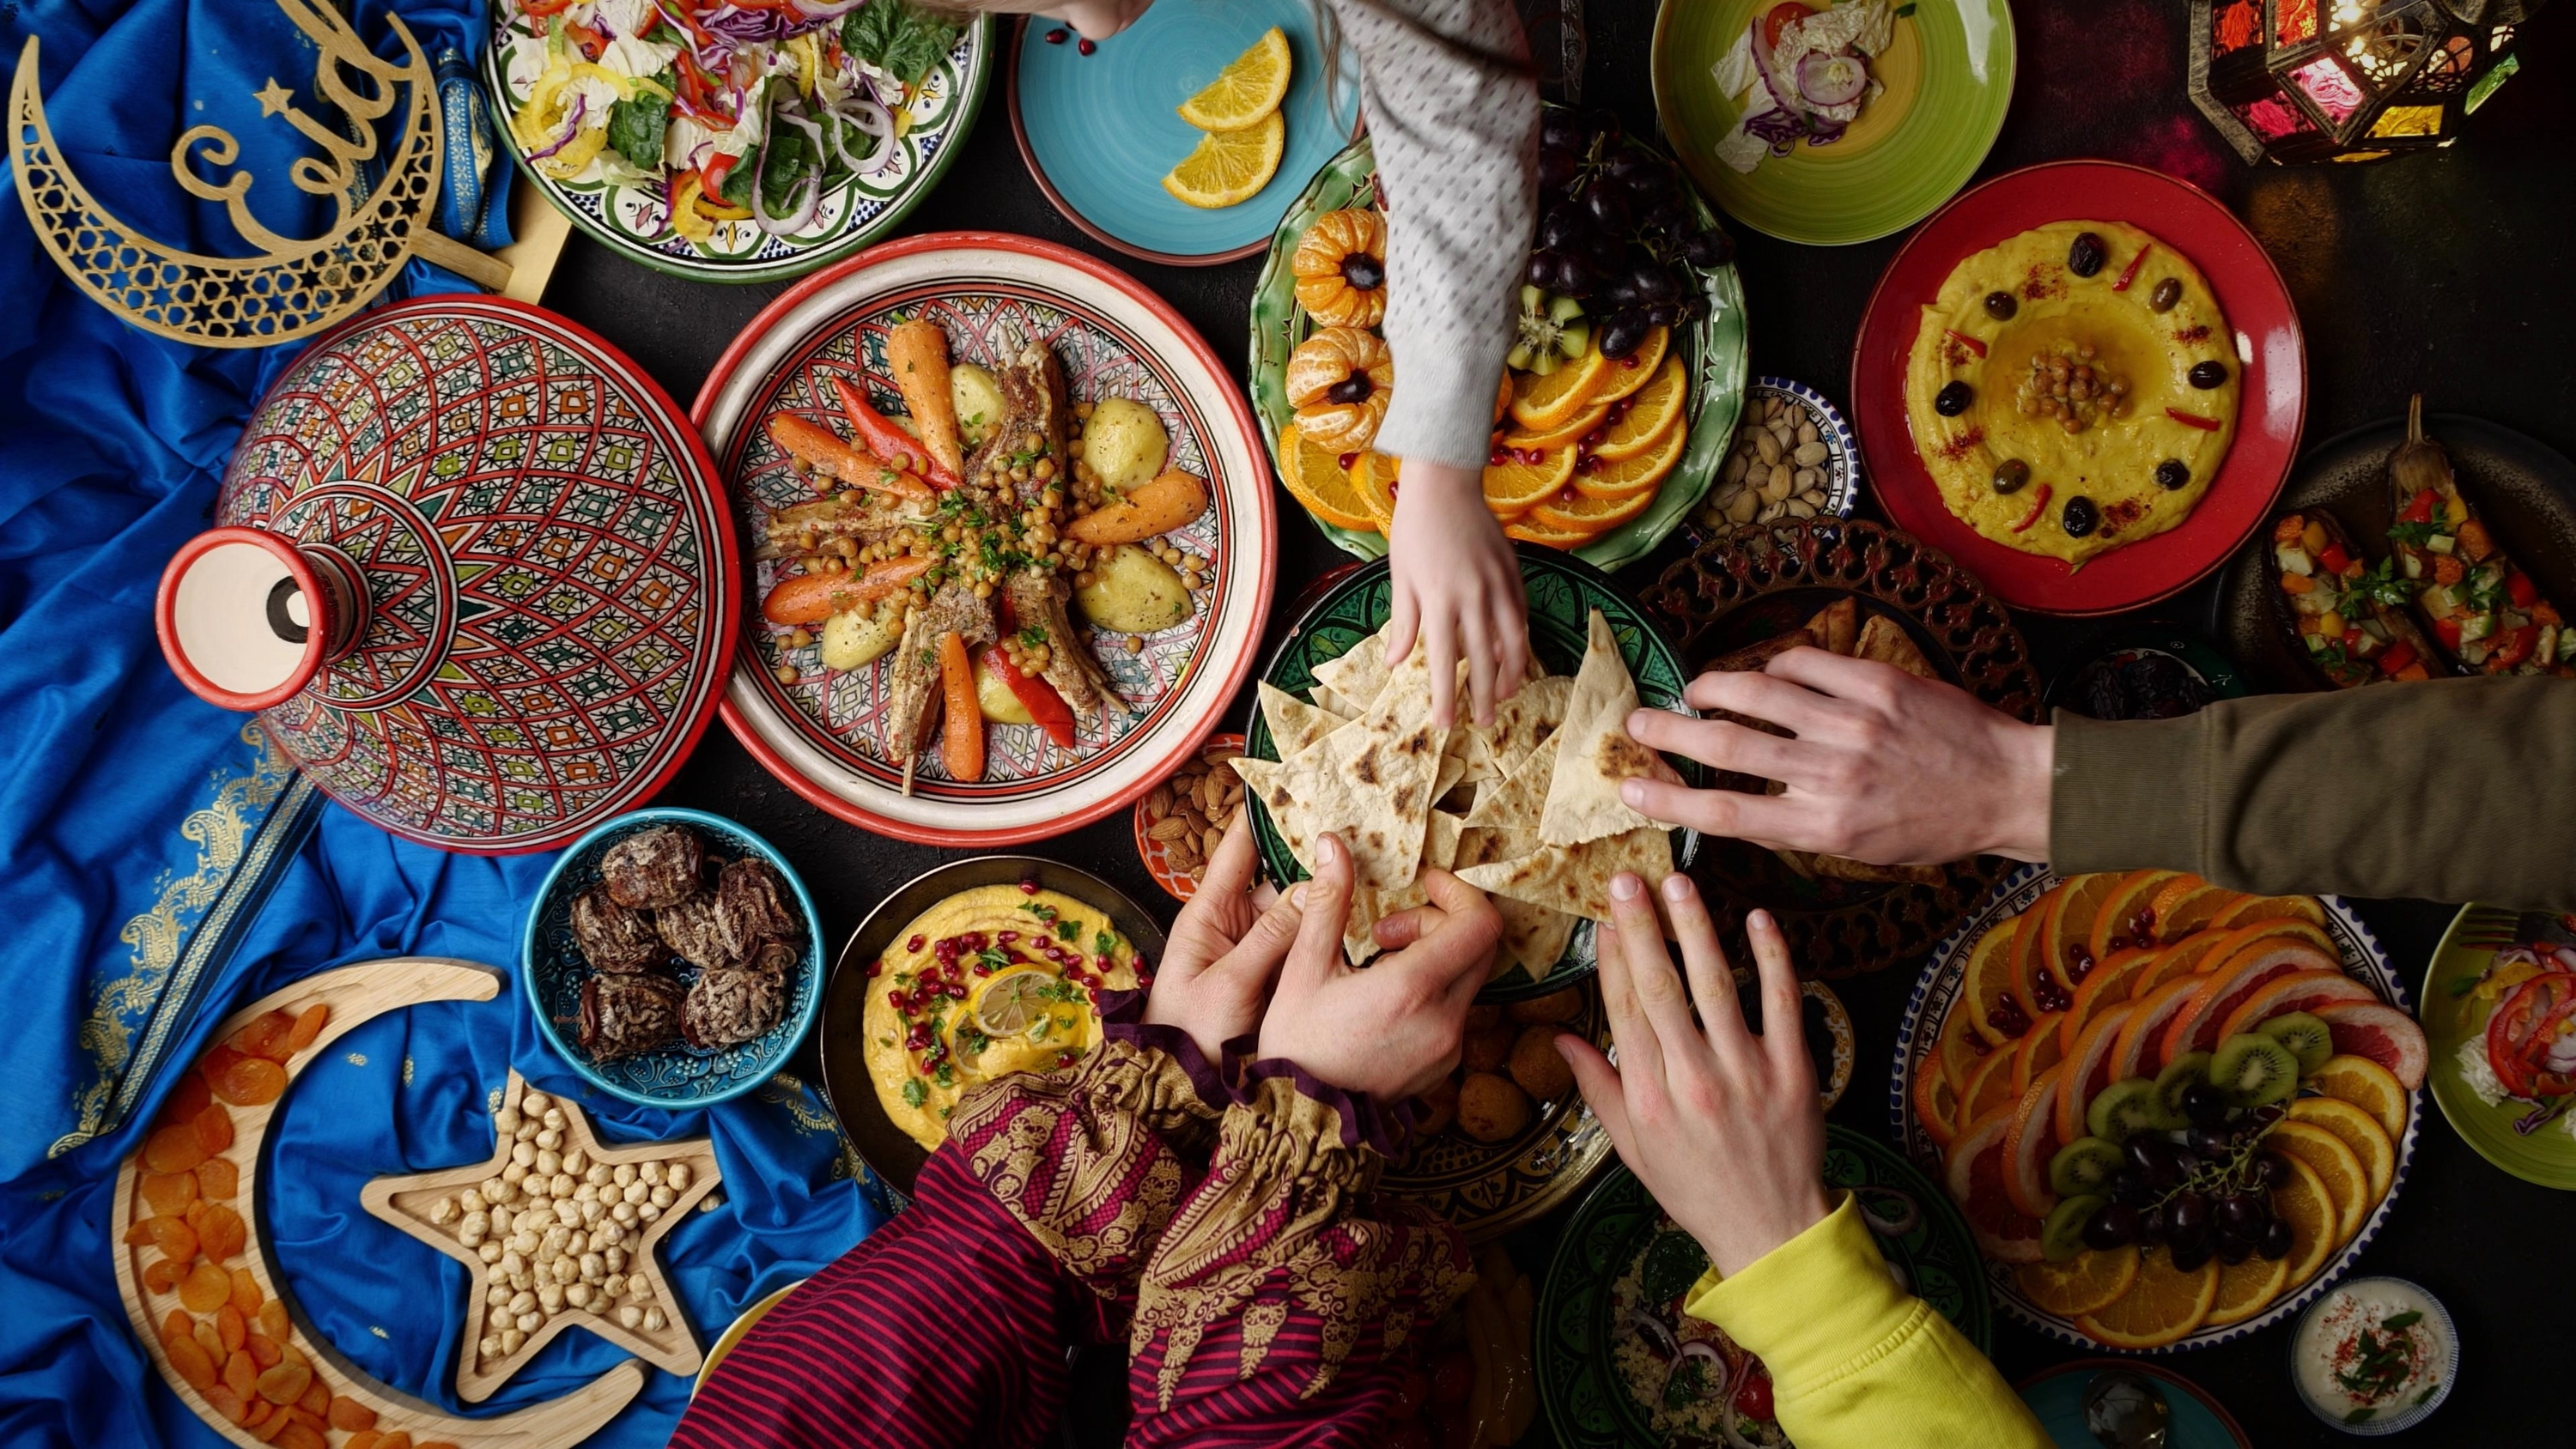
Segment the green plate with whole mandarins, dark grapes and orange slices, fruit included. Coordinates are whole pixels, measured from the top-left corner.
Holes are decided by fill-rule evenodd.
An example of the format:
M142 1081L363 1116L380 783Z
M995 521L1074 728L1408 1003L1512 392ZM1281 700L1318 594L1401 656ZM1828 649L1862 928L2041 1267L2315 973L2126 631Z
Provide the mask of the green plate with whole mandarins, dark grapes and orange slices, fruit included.
M1600 569L1669 535L1726 461L1744 293L1708 206L1607 113L1540 118L1540 224L1515 288L1484 502L1504 533ZM1280 221L1252 296L1252 407L1280 484L1363 558L1386 553L1401 386L1386 347L1386 214L1368 139Z

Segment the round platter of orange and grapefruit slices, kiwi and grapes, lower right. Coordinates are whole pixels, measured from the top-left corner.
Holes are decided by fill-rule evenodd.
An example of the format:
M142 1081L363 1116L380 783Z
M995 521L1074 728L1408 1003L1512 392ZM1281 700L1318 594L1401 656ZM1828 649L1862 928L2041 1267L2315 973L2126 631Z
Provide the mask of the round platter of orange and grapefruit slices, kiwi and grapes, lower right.
M2030 867L1935 952L1893 1109L2007 1310L2154 1351L2342 1277L2406 1176L2424 1063L2334 898Z

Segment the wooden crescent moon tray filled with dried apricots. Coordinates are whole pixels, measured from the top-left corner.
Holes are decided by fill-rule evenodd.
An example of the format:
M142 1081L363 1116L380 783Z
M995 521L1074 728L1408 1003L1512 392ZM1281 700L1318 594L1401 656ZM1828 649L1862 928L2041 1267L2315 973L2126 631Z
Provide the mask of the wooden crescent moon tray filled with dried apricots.
M492 968L440 957L343 965L273 991L216 1027L216 1045L116 1174L116 1289L126 1318L170 1392L224 1439L242 1449L353 1449L399 1434L412 1449L562 1449L644 1390L644 1367L623 1361L515 1413L443 1413L325 1343L268 1259L255 1207L260 1148L301 1068L384 1011L497 993ZM260 1053L234 1045L245 1032L258 1035Z

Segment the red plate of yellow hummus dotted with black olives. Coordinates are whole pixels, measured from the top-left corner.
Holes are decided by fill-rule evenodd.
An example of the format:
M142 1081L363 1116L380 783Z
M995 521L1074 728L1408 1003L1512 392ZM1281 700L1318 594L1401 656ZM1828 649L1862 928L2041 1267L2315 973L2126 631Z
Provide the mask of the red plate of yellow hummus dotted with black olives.
M1981 265L2009 270L1986 291ZM2298 311L2254 234L2120 162L1958 196L1888 265L1852 353L1888 517L2056 615L2133 610L2223 564L2269 517L2306 407Z

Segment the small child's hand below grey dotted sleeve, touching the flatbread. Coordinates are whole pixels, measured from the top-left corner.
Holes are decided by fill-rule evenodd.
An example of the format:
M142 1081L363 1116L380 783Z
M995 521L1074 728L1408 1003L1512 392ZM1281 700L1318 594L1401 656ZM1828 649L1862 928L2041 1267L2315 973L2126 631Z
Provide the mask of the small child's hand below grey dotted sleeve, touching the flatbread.
M1430 651L1432 723L1453 726L1458 661L1466 659L1476 721L1520 692L1530 672L1530 605L1520 558L1484 507L1484 479L1448 463L1406 463L1396 489L1396 522L1386 538L1396 613L1386 625L1386 661Z

